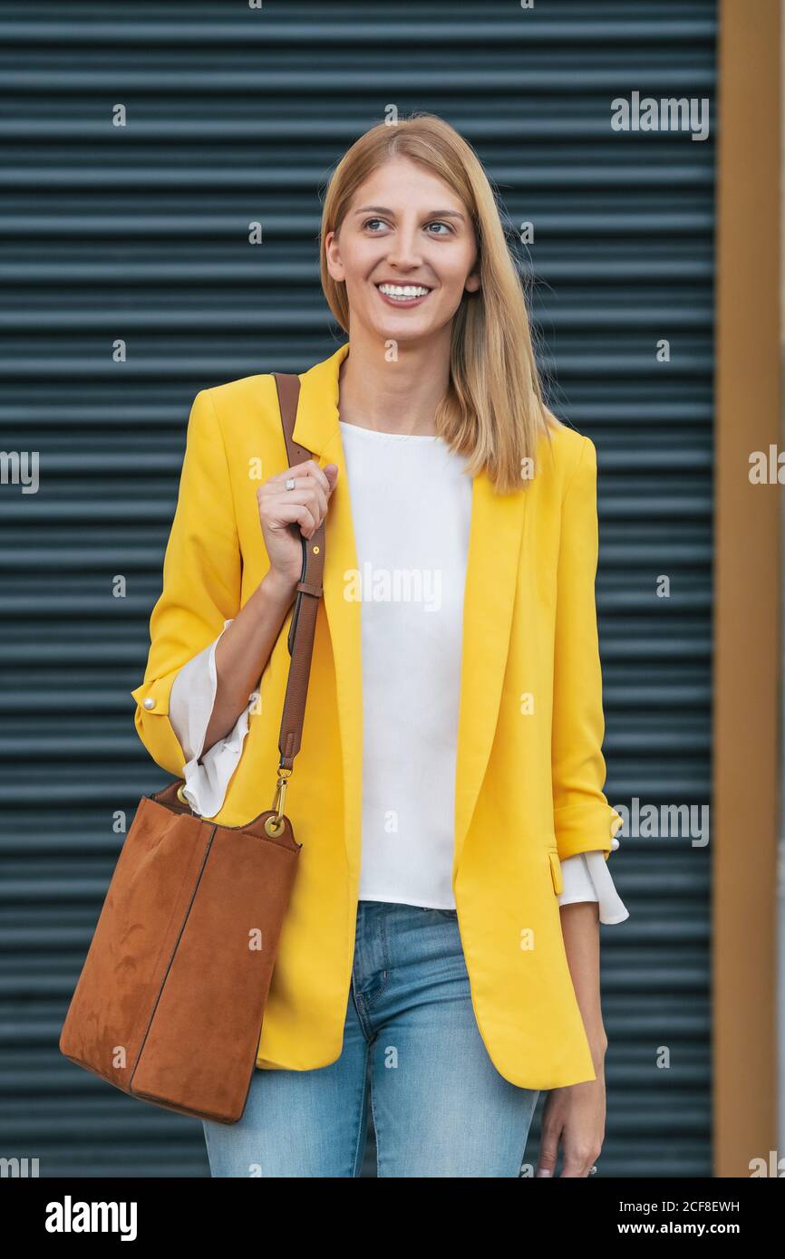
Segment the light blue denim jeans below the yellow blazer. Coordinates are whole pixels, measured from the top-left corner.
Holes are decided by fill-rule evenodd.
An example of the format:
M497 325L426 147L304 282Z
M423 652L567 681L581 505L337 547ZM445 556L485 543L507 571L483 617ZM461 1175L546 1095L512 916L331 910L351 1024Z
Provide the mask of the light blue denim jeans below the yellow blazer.
M519 1176L538 1090L493 1065L455 910L360 900L340 1058L257 1069L239 1123L204 1121L212 1176L359 1176L367 1080L379 1176Z

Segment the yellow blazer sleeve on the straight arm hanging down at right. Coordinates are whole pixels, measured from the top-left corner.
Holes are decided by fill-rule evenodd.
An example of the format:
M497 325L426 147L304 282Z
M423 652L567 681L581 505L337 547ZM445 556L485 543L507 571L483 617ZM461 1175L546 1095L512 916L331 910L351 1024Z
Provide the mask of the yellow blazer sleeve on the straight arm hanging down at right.
M597 636L597 457L582 448L562 501L553 660L553 822L559 860L602 851L622 818L604 793L602 675Z

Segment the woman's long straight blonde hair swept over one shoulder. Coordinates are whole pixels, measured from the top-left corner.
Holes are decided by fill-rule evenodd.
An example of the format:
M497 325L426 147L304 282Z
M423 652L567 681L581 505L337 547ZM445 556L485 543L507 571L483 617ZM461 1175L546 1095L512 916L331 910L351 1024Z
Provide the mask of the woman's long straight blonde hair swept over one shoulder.
M444 179L469 209L476 237L480 290L464 292L452 320L450 383L436 410L436 432L467 457L469 475L485 470L503 494L523 488L541 433L549 438L549 426L559 421L543 402L527 301L494 190L471 145L444 118L416 113L397 126L381 122L344 154L321 214L324 295L348 334L347 288L328 271L325 238L340 232L357 189L393 157L408 157Z

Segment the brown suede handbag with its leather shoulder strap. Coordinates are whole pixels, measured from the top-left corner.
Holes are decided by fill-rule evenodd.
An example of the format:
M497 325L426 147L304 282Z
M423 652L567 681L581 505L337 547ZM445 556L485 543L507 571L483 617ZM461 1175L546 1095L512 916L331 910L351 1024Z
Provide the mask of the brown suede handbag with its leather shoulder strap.
M300 381L273 373L291 467ZM272 808L246 826L194 813L176 779L144 796L120 852L59 1039L132 1097L236 1123L258 1053L301 845L284 813L300 748L321 597L325 524L302 543Z

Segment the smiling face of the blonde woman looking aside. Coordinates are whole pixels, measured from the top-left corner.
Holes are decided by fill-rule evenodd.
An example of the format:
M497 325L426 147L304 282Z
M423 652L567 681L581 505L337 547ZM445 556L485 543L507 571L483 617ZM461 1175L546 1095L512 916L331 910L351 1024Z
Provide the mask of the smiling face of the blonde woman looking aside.
M447 184L394 157L358 188L328 269L347 286L350 322L381 340L416 344L450 324L464 292L480 287L470 214Z

